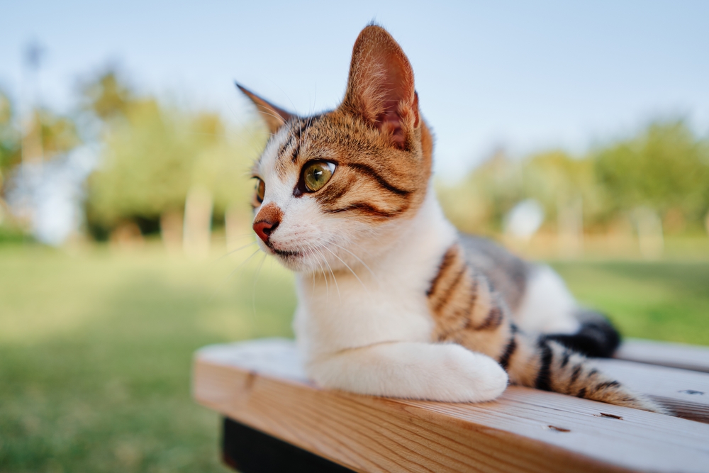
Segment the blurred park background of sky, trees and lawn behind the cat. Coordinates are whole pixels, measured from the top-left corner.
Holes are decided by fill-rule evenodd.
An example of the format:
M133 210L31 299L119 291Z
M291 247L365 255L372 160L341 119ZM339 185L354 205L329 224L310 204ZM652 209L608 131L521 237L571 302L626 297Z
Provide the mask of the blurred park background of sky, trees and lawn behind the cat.
M295 304L252 245L267 135L233 81L332 108L372 19L413 64L459 228L550 262L625 335L709 345L705 2L0 11L3 472L226 471L192 353L291 336Z

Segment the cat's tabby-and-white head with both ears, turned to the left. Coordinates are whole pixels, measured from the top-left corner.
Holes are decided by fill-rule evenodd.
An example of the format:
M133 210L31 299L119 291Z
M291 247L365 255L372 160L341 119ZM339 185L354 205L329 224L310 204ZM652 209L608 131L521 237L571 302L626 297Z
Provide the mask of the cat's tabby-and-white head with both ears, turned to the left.
M431 173L413 70L379 26L359 33L342 104L299 117L240 89L272 133L252 173L262 249L301 272L358 266L401 238Z

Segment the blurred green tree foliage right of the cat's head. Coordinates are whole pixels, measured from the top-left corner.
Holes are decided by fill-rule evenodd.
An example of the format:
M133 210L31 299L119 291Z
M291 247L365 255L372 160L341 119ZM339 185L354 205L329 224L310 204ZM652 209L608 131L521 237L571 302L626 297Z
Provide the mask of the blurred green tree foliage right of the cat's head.
M476 233L498 233L523 199L542 204L547 226L559 208L580 200L586 230L608 226L638 206L696 229L709 210L709 140L683 121L657 121L584 157L552 150L512 160L498 151L439 190L452 221Z

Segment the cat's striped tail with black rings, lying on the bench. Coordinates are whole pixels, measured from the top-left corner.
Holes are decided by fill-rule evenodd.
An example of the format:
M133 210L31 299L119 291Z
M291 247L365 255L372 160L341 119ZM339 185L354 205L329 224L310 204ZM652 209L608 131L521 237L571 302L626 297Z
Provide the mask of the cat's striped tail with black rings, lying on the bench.
M578 352L545 335L532 337L512 325L510 343L499 360L510 382L616 406L668 413L646 397L601 373Z

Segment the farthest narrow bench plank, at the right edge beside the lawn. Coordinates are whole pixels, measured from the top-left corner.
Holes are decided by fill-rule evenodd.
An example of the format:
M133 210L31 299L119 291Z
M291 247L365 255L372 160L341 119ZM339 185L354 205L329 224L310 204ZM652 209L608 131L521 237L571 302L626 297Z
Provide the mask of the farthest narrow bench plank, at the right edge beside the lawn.
M619 360L709 373L709 347L631 338L620 345L615 357Z

